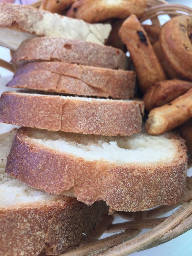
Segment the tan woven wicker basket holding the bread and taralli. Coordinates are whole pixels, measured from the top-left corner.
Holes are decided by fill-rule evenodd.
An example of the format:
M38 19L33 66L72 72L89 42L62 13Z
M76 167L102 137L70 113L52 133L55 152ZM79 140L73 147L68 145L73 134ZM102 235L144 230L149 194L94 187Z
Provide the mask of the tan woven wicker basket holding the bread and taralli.
M41 1L33 4L39 7ZM152 24L161 26L159 16L167 14L172 18L185 12L192 15L192 9L179 5L167 4L162 0L148 1L146 12L141 22L148 19ZM14 71L11 64L0 60L0 66ZM188 168L192 167L192 157L189 158ZM171 210L177 209L169 217L161 217L168 214ZM121 216L125 223L112 224L115 216ZM159 244L170 241L171 239L183 234L192 228L192 177L187 178L187 187L184 195L176 205L159 206L155 209L143 212L115 212L114 215L106 215L100 220L91 235L82 235L82 240L76 249L73 249L63 256L76 255L129 255L136 251L142 251ZM150 229L139 235L143 229ZM99 240L102 234L119 232L120 234ZM139 235L139 236L138 236ZM114 247L115 246L115 247ZM41 254L43 255L43 254Z

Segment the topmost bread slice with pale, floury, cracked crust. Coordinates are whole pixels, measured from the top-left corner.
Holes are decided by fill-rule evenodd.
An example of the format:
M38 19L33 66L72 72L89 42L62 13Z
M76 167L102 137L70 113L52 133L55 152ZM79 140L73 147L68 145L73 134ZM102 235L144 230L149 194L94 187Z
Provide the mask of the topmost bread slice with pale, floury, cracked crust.
M89 24L27 5L0 4L0 45L16 50L34 36L60 36L104 44L110 24Z

